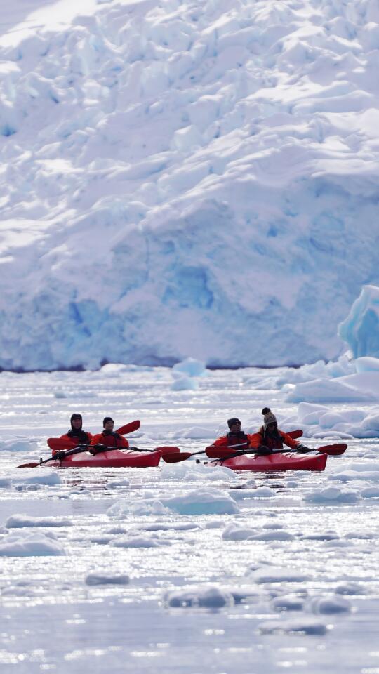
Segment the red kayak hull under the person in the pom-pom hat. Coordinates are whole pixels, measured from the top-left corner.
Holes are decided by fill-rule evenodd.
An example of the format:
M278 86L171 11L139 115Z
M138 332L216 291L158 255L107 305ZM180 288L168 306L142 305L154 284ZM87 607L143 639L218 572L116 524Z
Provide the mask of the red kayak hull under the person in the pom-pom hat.
M327 454L297 454L295 452L278 452L268 456L258 454L241 454L233 458L211 461L208 465L223 465L232 470L325 470Z

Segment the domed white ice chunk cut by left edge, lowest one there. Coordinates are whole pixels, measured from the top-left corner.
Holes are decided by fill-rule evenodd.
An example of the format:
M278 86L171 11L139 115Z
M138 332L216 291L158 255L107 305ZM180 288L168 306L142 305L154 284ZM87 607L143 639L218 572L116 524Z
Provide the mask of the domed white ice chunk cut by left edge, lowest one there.
M0 541L0 556L6 557L41 557L44 555L65 555L61 543L46 536L31 531L18 531L17 534L8 534Z

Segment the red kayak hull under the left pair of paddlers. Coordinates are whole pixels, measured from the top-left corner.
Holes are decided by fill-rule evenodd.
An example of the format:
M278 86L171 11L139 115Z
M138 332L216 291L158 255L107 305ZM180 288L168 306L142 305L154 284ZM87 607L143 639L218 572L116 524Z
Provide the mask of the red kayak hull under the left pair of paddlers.
M48 468L154 468L159 464L162 452L133 451L131 449L110 449L90 454L82 451L66 456L62 461L49 461L42 465Z

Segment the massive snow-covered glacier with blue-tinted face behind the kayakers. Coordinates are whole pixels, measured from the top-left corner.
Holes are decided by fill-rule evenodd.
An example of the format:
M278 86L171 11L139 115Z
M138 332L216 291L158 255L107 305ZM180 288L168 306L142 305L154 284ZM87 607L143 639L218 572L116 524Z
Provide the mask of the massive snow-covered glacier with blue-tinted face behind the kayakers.
M378 4L93 7L0 37L0 366L340 355L379 282Z

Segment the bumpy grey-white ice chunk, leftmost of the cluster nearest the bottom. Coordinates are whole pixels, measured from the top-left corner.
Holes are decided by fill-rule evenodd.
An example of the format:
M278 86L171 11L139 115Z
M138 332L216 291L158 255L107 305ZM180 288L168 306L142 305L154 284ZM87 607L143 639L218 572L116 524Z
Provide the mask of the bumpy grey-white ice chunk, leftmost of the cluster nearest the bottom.
M166 606L181 608L222 609L234 604L232 593L217 587L192 587L182 590L170 590L164 593Z

